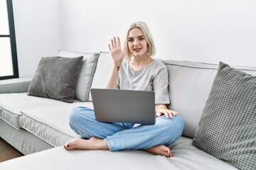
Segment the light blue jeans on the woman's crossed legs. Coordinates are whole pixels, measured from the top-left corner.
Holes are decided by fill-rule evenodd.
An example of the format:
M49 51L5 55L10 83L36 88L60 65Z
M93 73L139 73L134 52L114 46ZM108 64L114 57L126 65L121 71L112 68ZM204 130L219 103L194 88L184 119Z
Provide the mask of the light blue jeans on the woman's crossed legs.
M156 118L154 125L134 123L102 123L95 120L91 108L75 106L70 111L70 127L82 137L99 137L107 142L110 151L147 149L156 145L171 145L184 128L181 116Z

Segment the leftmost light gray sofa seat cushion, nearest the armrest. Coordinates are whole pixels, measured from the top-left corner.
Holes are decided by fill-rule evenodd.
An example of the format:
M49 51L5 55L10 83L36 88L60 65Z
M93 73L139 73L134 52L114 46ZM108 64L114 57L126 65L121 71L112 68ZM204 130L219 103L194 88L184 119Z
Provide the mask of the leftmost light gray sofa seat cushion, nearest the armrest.
M74 102L80 102L75 100ZM20 128L20 111L26 108L36 108L39 106L56 106L63 104L63 101L57 101L50 98L41 98L21 94L0 94L0 118L9 123L14 128Z

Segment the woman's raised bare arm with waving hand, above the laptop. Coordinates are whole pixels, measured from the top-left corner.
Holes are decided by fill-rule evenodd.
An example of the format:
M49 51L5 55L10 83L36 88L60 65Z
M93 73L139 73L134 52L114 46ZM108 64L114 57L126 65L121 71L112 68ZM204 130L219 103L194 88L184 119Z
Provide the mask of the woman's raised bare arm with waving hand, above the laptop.
M122 65L122 61L124 60L124 55L127 48L126 46L124 46L124 50L122 50L119 37L117 37L117 39L114 37L113 39L111 40L111 45L109 44L109 49L112 59L114 60L114 67L112 68L110 78L107 81L106 89L116 89L119 68Z

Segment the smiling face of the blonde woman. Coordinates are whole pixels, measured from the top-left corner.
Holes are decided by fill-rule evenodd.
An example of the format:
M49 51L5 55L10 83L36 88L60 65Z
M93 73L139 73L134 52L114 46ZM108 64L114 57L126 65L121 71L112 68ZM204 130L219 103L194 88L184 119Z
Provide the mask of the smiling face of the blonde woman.
M147 43L142 30L139 28L132 28L128 35L128 47L129 51L134 57L146 57L147 55Z

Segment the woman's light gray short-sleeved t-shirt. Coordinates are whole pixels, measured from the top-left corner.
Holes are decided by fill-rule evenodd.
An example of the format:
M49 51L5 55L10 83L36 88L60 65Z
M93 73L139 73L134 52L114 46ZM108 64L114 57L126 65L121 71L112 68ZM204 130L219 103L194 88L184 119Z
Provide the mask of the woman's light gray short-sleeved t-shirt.
M169 104L168 72L160 60L153 60L143 69L133 71L129 62L124 60L119 69L117 89L154 91L156 104Z

